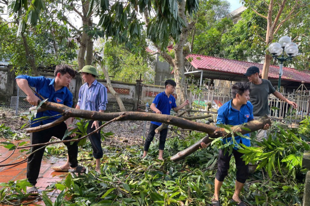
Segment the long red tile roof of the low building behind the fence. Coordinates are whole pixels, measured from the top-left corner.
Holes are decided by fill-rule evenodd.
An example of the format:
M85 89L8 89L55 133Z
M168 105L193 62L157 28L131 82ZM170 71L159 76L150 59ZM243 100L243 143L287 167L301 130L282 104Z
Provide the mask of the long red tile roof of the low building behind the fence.
M191 64L196 69L209 70L209 71L220 71L232 74L244 74L250 66L256 66L259 68L260 73L263 71L263 64L237 61L231 59L210 57L198 54L189 54L187 57L193 58ZM268 78L278 79L279 78L279 66L270 65ZM298 71L293 68L283 67L282 79L287 79L290 81L305 81L305 83L310 83L310 72L308 71Z

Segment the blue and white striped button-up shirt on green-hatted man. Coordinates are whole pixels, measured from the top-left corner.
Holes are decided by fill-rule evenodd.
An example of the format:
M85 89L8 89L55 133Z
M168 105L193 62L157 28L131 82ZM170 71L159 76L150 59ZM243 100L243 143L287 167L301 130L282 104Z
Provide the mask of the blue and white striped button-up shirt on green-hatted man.
M99 112L99 110L106 110L107 103L107 88L97 82L96 79L90 87L88 87L88 83L85 83L80 88L78 93L78 105L80 109Z

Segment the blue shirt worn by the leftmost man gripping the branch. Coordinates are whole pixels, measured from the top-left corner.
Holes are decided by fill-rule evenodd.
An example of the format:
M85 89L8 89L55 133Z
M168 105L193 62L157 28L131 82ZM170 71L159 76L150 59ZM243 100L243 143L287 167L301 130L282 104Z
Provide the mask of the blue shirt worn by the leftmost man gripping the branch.
M32 76L27 76L27 75L19 75L15 79L26 79L30 87L35 87L36 92L38 92L42 97L44 97L44 99L48 98L47 101L66 105L68 107L72 107L73 105L73 95L67 87L63 87L55 92L55 88L54 88L55 79L49 79L44 76L32 77ZM38 95L36 94L36 96ZM51 117L56 114L60 114L60 113L56 111L51 111L51 110L47 110L44 112L38 112L35 119L41 118L41 117L47 117L47 116ZM37 122L37 123L31 125L31 127L37 127L41 124L44 125L44 124L53 122L58 118L60 118L60 116L48 118L41 122L37 122L39 120L36 120L33 122Z

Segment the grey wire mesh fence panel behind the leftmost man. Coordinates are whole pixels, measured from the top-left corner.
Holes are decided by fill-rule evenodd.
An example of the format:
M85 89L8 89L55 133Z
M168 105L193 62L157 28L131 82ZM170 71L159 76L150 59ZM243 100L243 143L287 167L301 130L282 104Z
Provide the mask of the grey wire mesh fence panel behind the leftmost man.
M23 90L21 90L17 84L17 97L11 97L11 107L10 111L17 114L28 112L31 105L26 100L27 95Z

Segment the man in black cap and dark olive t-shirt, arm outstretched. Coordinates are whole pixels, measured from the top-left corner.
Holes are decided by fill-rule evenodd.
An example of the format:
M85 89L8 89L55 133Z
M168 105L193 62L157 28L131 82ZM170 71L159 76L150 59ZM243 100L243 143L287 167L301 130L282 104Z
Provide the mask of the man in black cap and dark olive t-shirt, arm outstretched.
M244 74L249 79L250 86L250 102L253 105L253 115L257 119L265 114L269 115L268 107L268 95L273 94L278 99L286 102L289 105L292 105L294 109L297 107L297 104L293 101L290 101L283 97L280 92L277 92L271 85L271 82L267 79L259 78L259 68L252 66L249 67ZM262 142L263 138L267 138L266 130L259 130L256 135L257 141Z

